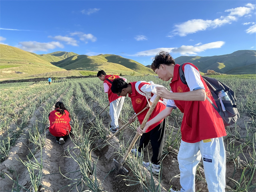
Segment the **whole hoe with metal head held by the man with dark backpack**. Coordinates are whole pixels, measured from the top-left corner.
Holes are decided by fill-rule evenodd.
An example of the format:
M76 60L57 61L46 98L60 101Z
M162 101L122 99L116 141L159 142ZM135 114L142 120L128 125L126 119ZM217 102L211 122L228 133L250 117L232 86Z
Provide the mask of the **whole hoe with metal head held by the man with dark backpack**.
M159 99L160 99L159 96L157 96L157 97L155 98L155 100L154 100L154 102L152 103L151 107L149 108L149 110L148 110L148 112L147 112L147 114L146 114L146 116L145 116L145 118L144 118L142 124L140 125L140 128L141 128L141 129L143 129L143 128L145 127L146 122L148 121L150 115L152 114L154 108L156 107L156 104L158 103ZM128 155L130 154L130 152L131 152L131 150L132 150L134 144L135 144L136 141L138 140L139 136L140 136L140 135L139 135L138 132L137 132L136 135L134 136L132 142L130 143L129 148L127 149L127 151L126 151L126 153L125 153L125 155L124 155L124 157L122 158L122 161L121 161L120 163L118 163L117 160L113 159L114 167L115 167L116 171L118 172L118 174L123 174L123 175L125 175L125 174L128 173L128 170L123 167L123 164L124 164L126 158L128 157Z

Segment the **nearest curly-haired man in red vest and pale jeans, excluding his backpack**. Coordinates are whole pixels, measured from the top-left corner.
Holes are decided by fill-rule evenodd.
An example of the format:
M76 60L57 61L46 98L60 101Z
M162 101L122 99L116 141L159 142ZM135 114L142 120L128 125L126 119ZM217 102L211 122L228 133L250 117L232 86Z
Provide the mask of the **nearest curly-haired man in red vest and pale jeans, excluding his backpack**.
M159 52L151 68L163 81L170 82L171 91L157 87L157 95L169 99L166 109L146 123L140 134L159 120L170 115L176 107L183 115L181 144L178 152L181 192L195 192L196 166L203 157L204 174L209 192L225 192L226 154L223 136L226 130L221 116L206 100L215 104L212 94L198 68L191 63L183 65L187 85L180 80L179 66L169 52Z

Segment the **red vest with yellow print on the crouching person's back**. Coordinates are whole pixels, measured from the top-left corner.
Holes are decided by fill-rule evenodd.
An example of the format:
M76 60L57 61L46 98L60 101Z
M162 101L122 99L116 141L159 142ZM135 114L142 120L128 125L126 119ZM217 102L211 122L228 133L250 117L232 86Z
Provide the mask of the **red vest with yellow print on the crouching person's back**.
M69 134L70 127L70 118L68 111L64 110L64 114L60 114L57 110L50 112L50 133L55 137L63 137Z

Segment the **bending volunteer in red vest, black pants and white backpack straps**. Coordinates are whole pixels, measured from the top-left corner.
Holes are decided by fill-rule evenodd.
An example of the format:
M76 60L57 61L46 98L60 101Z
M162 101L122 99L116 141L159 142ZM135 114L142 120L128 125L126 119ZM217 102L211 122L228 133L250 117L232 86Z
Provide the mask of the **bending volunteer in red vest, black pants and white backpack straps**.
M120 96L128 96L132 100L132 107L134 112L137 114L146 106L151 106L156 98L156 85L153 82L130 82L129 84L126 83L122 79L115 79L112 82L111 90L113 93L116 93ZM150 118L154 118L158 113L166 108L166 102L162 99L159 100L158 104L154 108ZM149 109L143 111L141 114L137 116L140 124L143 122L147 112ZM134 114L130 119L129 122L134 122L135 119L133 117L136 115ZM138 149L134 148L131 150L136 156L140 157L142 154L142 150L148 145L150 142L152 145L153 155L151 158L151 162L144 162L143 166L146 167L149 171L152 170L153 174L159 175L160 172L160 162L162 159L162 150L164 145L164 132L165 132L165 119L161 119L151 126L149 126L145 133L142 134L140 138L140 144Z

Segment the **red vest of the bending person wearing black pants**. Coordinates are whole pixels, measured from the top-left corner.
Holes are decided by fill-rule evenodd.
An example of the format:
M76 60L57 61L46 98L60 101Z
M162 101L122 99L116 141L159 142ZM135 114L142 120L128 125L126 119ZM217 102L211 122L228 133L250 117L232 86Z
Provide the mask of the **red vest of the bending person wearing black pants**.
M144 109L148 102L147 102L147 98L143 95L141 95L139 92L136 91L136 88L135 88L135 84L136 82L131 82L129 83L131 86L132 86L132 93L131 94L128 94L128 96L131 98L132 100L132 107L134 109L134 112L139 113L142 109ZM140 88L144 85L144 84L149 84L149 83L146 83L146 82L142 82L140 83L139 85L139 90ZM140 90L141 91L141 90ZM153 94L152 94L153 96ZM158 104L156 104L156 107L154 108L150 118L148 119L151 120L152 118L154 118L155 116L157 116L162 110L164 110L166 108L166 106L164 104L162 104L161 102L158 102ZM142 124L147 112L148 112L149 109L146 109L144 112L142 112L141 114L139 114L137 116L140 124ZM163 120L160 120L159 122L151 125L147 130L146 130L146 133L147 132L150 132L152 129L154 129L156 126L158 126Z

